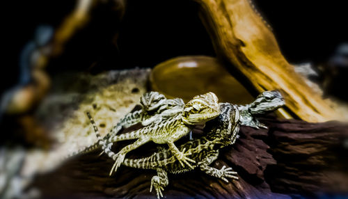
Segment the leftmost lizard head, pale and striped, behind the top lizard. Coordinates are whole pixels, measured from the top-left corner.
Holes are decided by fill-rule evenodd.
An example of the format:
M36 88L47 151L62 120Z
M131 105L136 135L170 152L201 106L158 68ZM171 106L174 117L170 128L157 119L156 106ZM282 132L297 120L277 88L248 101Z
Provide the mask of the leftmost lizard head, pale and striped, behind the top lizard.
M140 97L140 104L144 111L156 111L166 102L166 97L158 92L148 92Z

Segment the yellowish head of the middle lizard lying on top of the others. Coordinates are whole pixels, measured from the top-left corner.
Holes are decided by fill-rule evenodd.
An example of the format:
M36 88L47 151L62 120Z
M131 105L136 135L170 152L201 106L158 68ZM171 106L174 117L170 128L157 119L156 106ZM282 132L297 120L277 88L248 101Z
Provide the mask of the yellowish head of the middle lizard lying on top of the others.
M184 106L182 120L187 125L200 125L219 116L219 102L212 92L197 95Z

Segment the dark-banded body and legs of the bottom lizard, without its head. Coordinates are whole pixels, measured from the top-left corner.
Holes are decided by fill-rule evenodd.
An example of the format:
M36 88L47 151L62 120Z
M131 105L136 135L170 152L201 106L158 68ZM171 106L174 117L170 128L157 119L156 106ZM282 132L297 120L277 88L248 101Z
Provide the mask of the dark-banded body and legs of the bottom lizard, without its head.
M154 169L157 175L152 177L150 191L152 187L157 192L157 198L162 197L161 191L168 185L166 173L185 173L193 168L199 168L208 175L218 177L225 182L227 178L237 180L237 173L232 168L223 166L216 169L211 166L213 161L219 157L219 149L235 143L237 132L239 132L239 111L237 106L229 103L220 104L221 114L218 118L207 122L205 132L207 134L193 141L188 141L180 145L179 150L187 150L189 158L196 161L191 167L178 163L171 150L157 152L152 156L143 159L125 159L123 164L133 168Z

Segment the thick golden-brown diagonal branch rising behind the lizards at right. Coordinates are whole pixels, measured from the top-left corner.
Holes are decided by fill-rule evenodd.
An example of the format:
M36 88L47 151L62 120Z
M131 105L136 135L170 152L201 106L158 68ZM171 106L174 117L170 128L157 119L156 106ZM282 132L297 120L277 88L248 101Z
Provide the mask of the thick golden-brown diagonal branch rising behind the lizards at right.
M216 53L261 93L278 89L295 116L308 122L338 118L280 52L276 38L248 0L197 0Z

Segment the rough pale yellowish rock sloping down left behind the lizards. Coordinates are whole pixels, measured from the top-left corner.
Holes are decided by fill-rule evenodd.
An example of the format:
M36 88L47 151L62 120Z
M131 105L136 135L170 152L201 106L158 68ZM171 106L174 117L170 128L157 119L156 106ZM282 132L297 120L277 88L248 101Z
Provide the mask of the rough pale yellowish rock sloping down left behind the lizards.
M86 111L100 122L101 134L106 134L139 103L141 95L148 90L149 74L150 69L137 68L95 75L82 72L55 74L52 90L38 109L22 116L20 122L7 122L8 128L4 131L12 134L26 131L30 140L40 143L38 145L45 143L39 137L49 136L53 145L49 145L49 150L1 146L0 198L37 196L35 189L26 189L35 175L56 169L68 154L97 140Z

